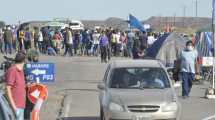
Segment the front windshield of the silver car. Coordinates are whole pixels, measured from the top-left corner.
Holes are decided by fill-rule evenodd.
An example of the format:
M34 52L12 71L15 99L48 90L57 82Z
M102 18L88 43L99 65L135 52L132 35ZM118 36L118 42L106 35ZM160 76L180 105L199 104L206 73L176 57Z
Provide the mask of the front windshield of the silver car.
M164 89L170 88L166 72L162 68L116 68L113 70L110 88Z

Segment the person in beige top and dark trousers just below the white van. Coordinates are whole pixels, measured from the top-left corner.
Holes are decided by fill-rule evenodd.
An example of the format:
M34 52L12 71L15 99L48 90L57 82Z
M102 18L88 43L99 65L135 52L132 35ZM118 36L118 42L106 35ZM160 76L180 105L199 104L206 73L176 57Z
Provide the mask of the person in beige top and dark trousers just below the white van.
M72 32L70 31L69 28L66 28L66 33L65 33L65 38L64 38L64 43L65 43L65 52L64 56L67 55L69 52L70 56L73 56L73 39L72 39Z

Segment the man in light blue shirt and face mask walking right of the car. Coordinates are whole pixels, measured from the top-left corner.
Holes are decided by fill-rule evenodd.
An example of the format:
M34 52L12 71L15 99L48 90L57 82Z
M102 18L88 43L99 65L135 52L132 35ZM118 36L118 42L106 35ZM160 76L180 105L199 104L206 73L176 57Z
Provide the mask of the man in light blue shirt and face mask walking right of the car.
M180 70L182 79L182 97L184 99L189 97L192 81L195 80L195 74L199 73L197 63L198 52L194 49L192 41L186 43L186 48L181 52Z

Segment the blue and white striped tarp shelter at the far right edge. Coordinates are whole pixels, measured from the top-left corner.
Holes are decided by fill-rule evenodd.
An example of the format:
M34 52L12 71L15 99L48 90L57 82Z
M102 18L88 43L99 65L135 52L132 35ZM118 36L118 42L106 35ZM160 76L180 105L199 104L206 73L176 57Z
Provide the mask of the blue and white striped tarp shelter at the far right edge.
M202 31L196 33L195 47L200 57L211 57L213 55L212 32Z

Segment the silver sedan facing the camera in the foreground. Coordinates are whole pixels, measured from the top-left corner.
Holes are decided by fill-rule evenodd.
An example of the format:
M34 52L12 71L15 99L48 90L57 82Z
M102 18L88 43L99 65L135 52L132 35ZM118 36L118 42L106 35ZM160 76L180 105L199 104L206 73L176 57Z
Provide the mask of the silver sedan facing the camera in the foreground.
M98 85L101 120L178 120L181 105L157 60L109 63Z

